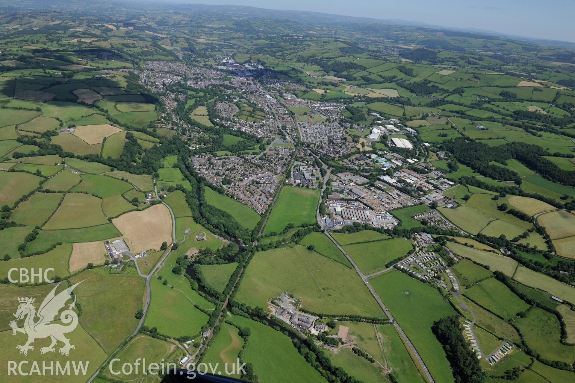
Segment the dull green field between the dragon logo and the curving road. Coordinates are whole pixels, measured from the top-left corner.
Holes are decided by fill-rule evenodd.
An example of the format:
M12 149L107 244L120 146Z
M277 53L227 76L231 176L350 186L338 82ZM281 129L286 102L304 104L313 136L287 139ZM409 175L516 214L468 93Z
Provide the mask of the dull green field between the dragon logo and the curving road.
M86 270L72 277L73 284L83 281L74 289L78 303L82 304L80 324L110 353L139 322L134 314L142 306L144 278L128 274L106 274L109 268ZM110 299L105 291L121 291L122 299ZM106 313L106 315L102 315Z

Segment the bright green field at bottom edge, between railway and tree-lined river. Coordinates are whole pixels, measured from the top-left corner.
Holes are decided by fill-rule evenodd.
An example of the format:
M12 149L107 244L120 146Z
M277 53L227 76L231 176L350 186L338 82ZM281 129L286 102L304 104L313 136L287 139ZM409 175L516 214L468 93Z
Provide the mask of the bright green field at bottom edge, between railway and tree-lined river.
M301 383L327 381L298 353L287 335L243 316L233 316L229 320L242 328L250 328L250 341L243 360L252 363L261 382L285 382L285 376L278 374L285 366L289 366L290 380Z

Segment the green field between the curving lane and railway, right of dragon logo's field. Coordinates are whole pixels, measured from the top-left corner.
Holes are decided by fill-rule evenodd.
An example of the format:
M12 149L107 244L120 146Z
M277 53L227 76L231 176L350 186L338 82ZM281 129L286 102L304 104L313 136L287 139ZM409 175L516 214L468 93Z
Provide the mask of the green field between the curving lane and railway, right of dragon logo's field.
M171 272L171 270L170 270ZM209 316L194 307L185 293L163 285L163 281L152 278L150 308L145 317L145 326L157 327L160 334L173 338L198 334L208 323ZM185 323L185 326L182 324Z

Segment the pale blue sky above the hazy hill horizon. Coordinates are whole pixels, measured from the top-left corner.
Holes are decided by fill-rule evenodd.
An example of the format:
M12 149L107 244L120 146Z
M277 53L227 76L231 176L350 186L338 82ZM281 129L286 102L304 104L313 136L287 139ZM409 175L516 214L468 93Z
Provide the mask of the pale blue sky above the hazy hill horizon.
M401 19L575 42L575 0L164 0Z

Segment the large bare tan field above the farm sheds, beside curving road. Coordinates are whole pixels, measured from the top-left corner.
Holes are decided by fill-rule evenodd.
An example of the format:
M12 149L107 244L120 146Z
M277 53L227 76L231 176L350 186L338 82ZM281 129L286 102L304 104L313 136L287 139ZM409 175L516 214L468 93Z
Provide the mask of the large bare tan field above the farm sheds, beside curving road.
M163 204L143 211L131 211L112 220L124 236L132 253L159 250L162 242L171 242L172 218Z

